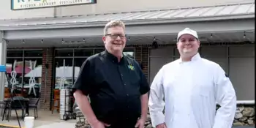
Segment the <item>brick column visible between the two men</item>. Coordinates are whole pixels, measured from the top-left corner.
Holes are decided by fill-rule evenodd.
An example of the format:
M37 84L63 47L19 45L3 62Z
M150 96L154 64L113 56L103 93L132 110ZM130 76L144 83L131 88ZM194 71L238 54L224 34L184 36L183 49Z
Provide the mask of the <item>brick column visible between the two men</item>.
M140 64L143 64L143 73L148 78L148 46L147 45L137 45L135 46L135 59Z

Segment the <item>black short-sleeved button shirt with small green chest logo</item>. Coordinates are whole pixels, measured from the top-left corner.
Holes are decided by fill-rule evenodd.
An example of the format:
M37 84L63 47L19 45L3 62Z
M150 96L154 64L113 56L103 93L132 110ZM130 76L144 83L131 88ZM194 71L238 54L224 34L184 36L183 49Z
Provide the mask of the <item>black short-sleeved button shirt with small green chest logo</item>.
M89 95L100 121L113 124L140 117L140 96L150 88L137 61L124 55L118 62L105 50L86 59L73 89Z

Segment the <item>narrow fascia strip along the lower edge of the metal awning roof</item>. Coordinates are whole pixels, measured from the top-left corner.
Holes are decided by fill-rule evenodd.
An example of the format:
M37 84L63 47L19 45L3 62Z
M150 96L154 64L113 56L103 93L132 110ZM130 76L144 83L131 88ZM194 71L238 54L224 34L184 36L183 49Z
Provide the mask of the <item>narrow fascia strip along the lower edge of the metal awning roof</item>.
M165 23L194 23L203 21L215 20L238 20L255 18L255 14L247 15L221 15L208 17L193 17L193 18L175 18L175 19L143 19L143 20L124 20L126 26L140 26L151 24L165 24ZM15 30L34 30L34 29L75 29L75 28L94 28L105 26L109 21L94 21L94 22L61 22L61 23L34 23L34 24L19 24L14 26L4 25L0 26L1 31L15 31Z

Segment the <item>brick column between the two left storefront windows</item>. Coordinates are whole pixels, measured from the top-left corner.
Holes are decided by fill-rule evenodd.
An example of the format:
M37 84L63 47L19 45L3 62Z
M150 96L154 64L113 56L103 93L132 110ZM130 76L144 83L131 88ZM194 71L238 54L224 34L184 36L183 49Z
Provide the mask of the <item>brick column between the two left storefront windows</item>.
M44 110L50 110L50 97L53 85L53 51L53 48L44 48L42 54L42 86L39 104L40 108ZM45 67L46 64L48 64L48 69Z

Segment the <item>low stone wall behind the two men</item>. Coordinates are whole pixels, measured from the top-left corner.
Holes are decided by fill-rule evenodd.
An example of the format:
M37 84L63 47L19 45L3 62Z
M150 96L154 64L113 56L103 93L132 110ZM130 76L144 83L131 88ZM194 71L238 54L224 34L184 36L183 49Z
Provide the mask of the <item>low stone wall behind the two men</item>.
M89 124L86 122L86 118L84 118L80 110L76 109L76 113L78 118L75 127L88 128ZM255 126L255 105L238 105L233 126ZM153 128L149 114L147 115L145 128Z

